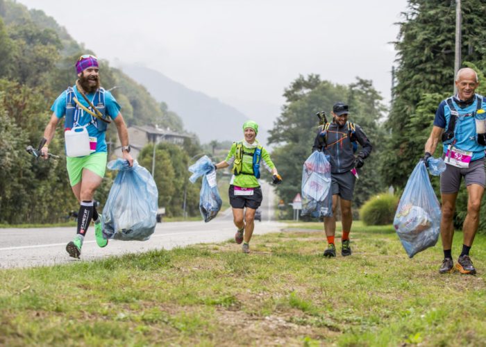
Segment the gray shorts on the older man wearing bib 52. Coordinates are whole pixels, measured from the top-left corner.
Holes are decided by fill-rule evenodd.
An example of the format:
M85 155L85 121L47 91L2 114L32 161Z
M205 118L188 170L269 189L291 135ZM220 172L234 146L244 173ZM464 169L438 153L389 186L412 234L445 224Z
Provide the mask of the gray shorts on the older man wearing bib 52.
M485 158L470 162L469 167L465 169L446 164L446 171L440 175L440 192L444 194L454 194L459 192L463 176L466 187L473 183L485 187Z

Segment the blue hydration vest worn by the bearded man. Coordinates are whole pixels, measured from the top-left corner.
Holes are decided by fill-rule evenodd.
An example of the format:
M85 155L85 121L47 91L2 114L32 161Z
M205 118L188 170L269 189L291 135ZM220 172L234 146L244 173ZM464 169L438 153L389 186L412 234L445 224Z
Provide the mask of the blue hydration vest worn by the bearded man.
M74 98L76 98L76 93L74 92L73 87L68 87L66 90L66 116L64 121L65 130L72 129L74 126L78 125L79 119L84 112L74 101ZM95 105L99 112L101 112L103 119L108 117L106 115L105 90L103 88L100 87L99 90L94 93L92 104ZM88 107L88 110L93 111L91 106ZM91 121L87 125L89 124L96 126L99 131L106 131L107 124L104 121L97 119L97 117L91 116Z

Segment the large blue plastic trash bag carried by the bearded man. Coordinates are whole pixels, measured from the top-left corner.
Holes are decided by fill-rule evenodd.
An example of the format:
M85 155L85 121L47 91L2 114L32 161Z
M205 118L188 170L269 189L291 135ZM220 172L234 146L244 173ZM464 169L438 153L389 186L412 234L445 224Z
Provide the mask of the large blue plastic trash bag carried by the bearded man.
M157 224L158 190L152 175L136 160L112 160L110 170L119 170L103 208L106 239L145 241Z

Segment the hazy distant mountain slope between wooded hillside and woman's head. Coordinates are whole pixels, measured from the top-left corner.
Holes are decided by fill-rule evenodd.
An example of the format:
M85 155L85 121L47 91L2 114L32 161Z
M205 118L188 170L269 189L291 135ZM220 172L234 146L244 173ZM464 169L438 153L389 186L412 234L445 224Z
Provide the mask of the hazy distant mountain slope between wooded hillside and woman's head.
M144 85L157 101L167 103L170 110L174 110L183 119L184 128L196 133L201 143L213 139L236 141L242 138L241 127L249 117L239 110L206 94L190 90L156 70L139 65L118 66L125 74Z

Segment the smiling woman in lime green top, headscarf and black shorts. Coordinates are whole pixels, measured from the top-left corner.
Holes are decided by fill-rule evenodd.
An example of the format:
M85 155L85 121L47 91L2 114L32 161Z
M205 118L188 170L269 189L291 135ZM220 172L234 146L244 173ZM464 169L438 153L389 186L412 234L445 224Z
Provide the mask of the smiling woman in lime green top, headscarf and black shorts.
M282 178L278 175L274 163L271 162L267 150L255 139L258 134L258 124L254 121L246 121L243 124L243 133L244 139L234 142L226 160L215 164L215 168L224 169L233 164L233 177L228 193L233 208L233 221L237 228L235 242L237 244L243 242L243 253L249 253L249 242L255 228L255 212L262 203L262 189L258 182L260 165L271 172L274 184L280 183Z

